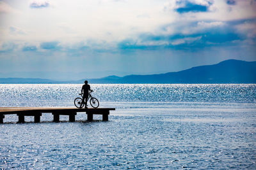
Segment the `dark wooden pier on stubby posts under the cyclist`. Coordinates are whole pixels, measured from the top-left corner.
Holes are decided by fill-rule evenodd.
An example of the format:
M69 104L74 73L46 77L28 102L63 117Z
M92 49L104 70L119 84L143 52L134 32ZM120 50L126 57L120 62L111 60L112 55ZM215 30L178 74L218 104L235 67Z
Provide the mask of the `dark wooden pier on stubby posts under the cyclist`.
M92 121L93 115L102 115L102 120L108 121L110 110L115 110L115 108L0 108L0 124L3 124L4 115L13 114L19 117L19 123L24 123L25 117L34 117L35 123L39 123L42 113L52 113L53 122L60 122L60 115L68 115L69 121L75 122L77 112L85 112L87 121Z

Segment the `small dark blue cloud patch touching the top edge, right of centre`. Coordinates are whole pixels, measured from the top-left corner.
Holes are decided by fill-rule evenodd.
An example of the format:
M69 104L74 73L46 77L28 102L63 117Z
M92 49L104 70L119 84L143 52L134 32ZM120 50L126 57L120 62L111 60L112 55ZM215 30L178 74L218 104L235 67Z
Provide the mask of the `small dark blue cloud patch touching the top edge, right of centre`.
M178 13L206 12L209 10L209 6L211 6L211 4L211 1L204 0L180 0L176 1L177 8L175 8L175 11Z

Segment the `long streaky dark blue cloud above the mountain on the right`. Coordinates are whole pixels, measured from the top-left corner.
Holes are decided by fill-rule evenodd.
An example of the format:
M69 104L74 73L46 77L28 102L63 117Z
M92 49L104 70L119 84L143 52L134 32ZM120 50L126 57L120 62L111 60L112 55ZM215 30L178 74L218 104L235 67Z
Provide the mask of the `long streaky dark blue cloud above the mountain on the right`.
M232 25L228 26L227 24L227 27L212 27L194 34L141 34L136 41L132 39L121 41L118 43L118 48L120 50L156 50L160 48L186 50L206 46L230 46L234 44L235 40L243 41L245 39L231 27Z

